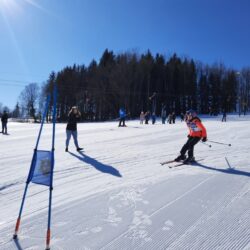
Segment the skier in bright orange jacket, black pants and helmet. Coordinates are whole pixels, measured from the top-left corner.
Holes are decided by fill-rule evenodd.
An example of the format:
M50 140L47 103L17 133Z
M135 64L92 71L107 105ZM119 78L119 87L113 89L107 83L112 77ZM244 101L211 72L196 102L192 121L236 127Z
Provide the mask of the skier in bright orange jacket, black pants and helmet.
M195 161L194 158L194 146L201 139L203 142L207 141L207 131L206 128L201 123L201 120L197 117L194 110L189 110L186 113L185 119L189 135L187 142L183 145L180 155L175 159L175 161L184 161L184 163L189 163ZM188 158L186 158L186 152L188 151Z

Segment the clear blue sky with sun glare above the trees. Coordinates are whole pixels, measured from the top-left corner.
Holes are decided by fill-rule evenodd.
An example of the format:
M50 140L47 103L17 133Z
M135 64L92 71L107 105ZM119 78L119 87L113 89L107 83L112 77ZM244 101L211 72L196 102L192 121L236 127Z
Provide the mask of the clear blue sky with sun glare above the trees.
M108 48L250 66L249 0L0 0L0 102Z

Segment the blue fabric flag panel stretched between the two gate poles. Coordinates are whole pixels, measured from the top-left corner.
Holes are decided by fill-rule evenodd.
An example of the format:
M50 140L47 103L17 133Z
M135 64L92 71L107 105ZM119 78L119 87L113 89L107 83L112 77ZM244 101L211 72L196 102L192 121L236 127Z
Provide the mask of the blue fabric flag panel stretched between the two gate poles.
M51 151L37 150L35 154L30 181L50 186L52 176Z

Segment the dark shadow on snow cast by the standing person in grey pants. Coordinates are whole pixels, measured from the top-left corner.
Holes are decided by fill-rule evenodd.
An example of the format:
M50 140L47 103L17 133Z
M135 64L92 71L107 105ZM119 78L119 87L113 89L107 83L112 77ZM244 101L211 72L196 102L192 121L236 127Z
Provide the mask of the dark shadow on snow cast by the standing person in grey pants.
M72 152L69 152L69 153L72 156L79 159L80 161L83 161L89 165L92 165L96 170L98 170L102 173L111 174L111 175L114 175L116 177L122 177L122 175L120 174L120 172L116 168L109 166L109 165L105 165L105 164L97 161L96 159L89 157L88 155L86 155L82 152L79 152L80 155L76 155Z

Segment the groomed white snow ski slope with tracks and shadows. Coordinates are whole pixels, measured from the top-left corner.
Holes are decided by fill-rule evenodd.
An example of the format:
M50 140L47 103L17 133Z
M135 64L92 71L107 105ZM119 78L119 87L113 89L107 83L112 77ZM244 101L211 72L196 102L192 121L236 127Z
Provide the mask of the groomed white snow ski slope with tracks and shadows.
M82 153L65 153L56 125L51 249L250 249L250 116L204 117L199 165L169 169L187 128L127 122L78 124ZM19 240L12 235L39 124L9 123L0 134L0 249L45 249L48 187L30 184ZM50 150L45 124L39 149ZM226 158L225 158L226 157Z

